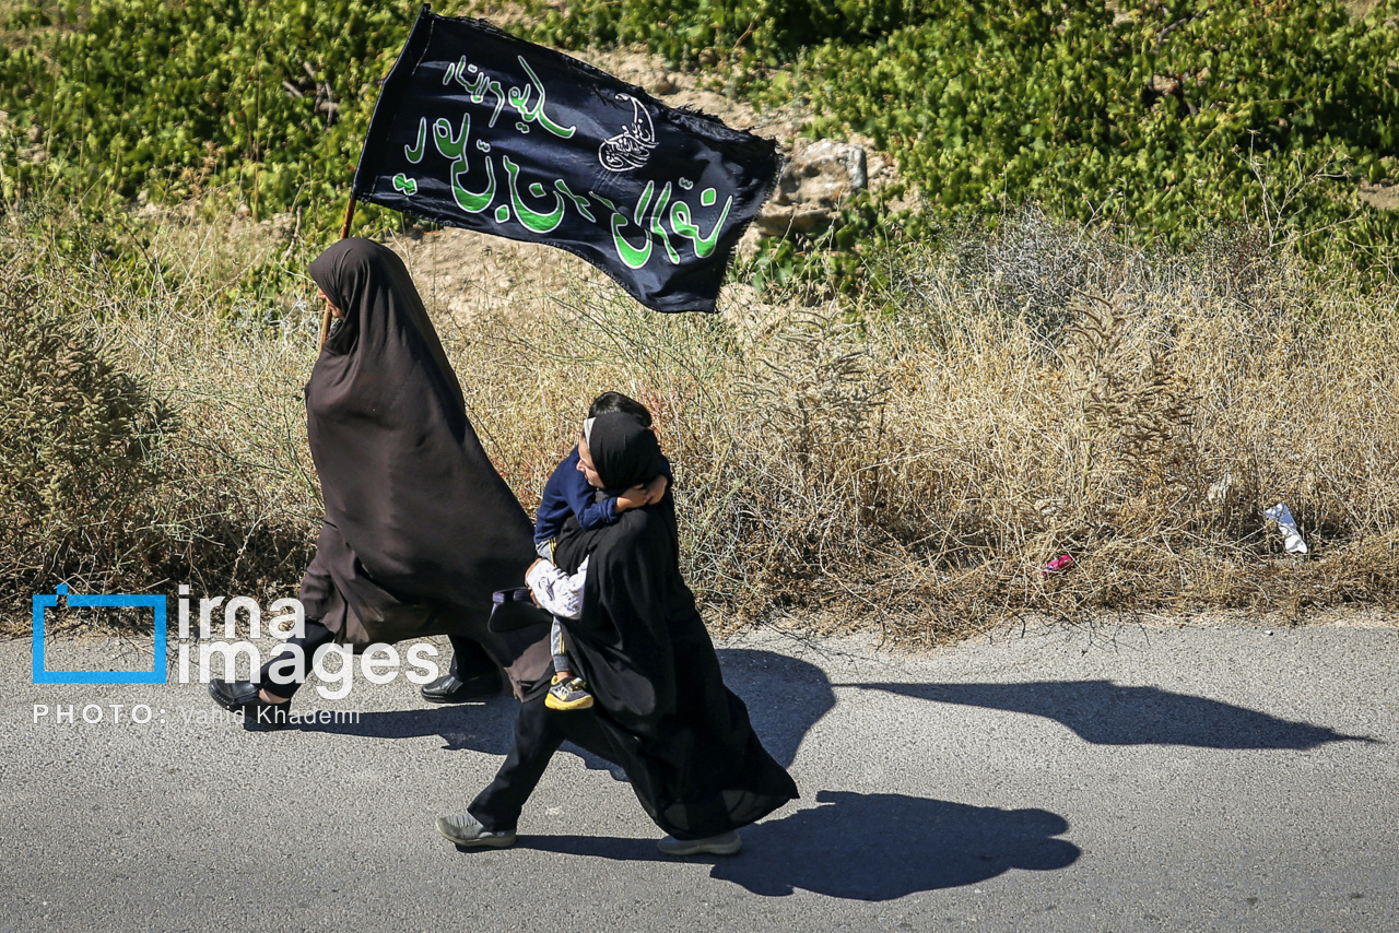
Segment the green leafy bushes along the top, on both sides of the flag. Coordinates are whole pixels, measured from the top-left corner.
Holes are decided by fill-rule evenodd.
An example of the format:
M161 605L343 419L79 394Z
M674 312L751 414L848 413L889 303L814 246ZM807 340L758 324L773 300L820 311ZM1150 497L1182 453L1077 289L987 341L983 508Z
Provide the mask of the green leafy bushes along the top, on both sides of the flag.
M463 0L445 13L471 11ZM767 249L758 281L859 285L860 250L1021 203L1191 243L1263 222L1314 259L1393 263L1399 0L1364 20L1326 0L522 0L530 38L642 42L718 67L754 101L809 102L813 136L891 152L928 217L852 204L811 243ZM0 45L0 189L161 203L218 187L255 218L295 206L339 227L378 80L411 21L365 0L29 0ZM783 71L771 69L781 66ZM362 211L357 228L395 222Z

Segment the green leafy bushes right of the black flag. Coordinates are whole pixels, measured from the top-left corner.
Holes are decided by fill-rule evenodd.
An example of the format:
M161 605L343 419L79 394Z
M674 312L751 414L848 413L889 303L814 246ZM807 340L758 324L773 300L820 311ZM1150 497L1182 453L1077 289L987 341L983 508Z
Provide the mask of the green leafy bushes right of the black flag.
M811 136L872 137L935 220L1038 201L1177 243L1266 220L1349 263L1392 257L1399 235L1356 194L1399 176L1396 15L1395 0L1363 21L1316 0L592 0L546 14L537 38L790 66L740 84L764 104L807 98ZM869 213L846 218L862 241Z

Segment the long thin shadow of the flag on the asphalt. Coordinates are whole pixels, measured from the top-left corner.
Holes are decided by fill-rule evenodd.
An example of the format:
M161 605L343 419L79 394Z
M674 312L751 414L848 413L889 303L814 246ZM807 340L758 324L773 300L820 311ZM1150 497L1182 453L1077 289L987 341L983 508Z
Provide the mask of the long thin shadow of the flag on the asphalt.
M1377 741L1325 726L1279 719L1244 706L1119 687L1109 680L1025 684L837 684L883 690L943 704L983 706L1055 719L1095 746L1196 746L1199 748L1305 750L1329 741Z

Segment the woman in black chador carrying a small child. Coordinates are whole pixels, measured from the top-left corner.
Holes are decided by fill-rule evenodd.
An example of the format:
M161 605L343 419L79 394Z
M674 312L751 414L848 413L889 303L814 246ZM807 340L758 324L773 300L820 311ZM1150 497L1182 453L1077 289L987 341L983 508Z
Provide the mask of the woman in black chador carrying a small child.
M617 492L663 469L656 436L624 413L592 418L579 460ZM515 747L467 813L438 820L462 846L508 846L526 797L550 757L571 740L625 769L642 807L670 835L669 855L730 855L739 827L797 796L725 685L719 659L680 575L674 498L625 512L592 532L569 519L555 547L560 569L588 558L582 613L561 620L571 660L595 697L589 709L544 705L547 684L526 695Z

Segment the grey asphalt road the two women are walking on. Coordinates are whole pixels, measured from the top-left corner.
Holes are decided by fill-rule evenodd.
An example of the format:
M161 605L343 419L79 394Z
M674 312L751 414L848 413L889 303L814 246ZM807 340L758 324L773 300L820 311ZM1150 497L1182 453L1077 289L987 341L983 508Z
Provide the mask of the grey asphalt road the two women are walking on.
M132 646L48 664L84 652ZM571 751L516 848L439 838L499 765L505 698L357 681L297 705L358 722L249 733L197 683L36 685L3 643L0 930L1399 930L1395 628L719 653L802 800L677 860Z

